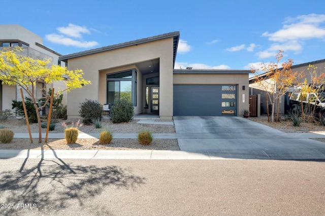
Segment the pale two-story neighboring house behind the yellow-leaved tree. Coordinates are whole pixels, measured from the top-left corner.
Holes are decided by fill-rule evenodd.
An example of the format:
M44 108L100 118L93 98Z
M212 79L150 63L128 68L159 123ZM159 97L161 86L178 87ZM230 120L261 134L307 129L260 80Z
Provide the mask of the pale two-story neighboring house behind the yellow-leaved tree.
M0 49L5 47L20 46L23 48L23 55L30 56L35 59L50 58L53 64L60 63L58 57L59 53L43 46L43 38L39 35L27 30L20 25L0 25ZM63 62L62 62L63 63ZM64 63L63 63L64 65ZM62 66L63 66L62 65ZM64 89L63 82L56 82L53 86L55 92L58 89ZM43 88L43 83L38 84L36 95L41 96L40 88ZM0 80L0 110L12 109L12 100L21 101L19 86L9 86L2 84ZM28 96L24 93L25 96ZM66 92L63 95L63 104L67 102Z

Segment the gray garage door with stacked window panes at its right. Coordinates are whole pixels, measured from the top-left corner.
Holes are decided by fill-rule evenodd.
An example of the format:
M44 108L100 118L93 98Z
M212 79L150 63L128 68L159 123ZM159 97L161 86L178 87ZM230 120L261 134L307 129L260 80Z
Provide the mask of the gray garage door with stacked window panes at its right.
M174 116L237 115L237 85L174 85Z

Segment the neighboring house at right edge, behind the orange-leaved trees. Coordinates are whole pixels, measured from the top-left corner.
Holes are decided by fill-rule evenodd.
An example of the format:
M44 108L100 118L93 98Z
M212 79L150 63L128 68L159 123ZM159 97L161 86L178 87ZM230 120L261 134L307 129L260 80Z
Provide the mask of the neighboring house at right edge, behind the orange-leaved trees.
M324 73L325 59L293 65L292 66L293 71L299 71L299 72L302 71L303 75L305 75L299 80L300 83L303 83L305 81L305 79L307 79L307 83L310 83L311 77L310 77L310 73L308 71L309 65L317 66L317 68L320 69L322 71L322 73ZM259 75L259 77L261 77L261 76L268 79L268 73ZM258 84L255 83L255 77L252 77L249 79L249 94L250 95L261 94L261 102L260 102L261 113L267 113L266 93L265 93L264 89L261 89L261 87L259 87ZM285 114L287 111L290 110L288 95L289 95L289 93L282 96L279 100L279 113L280 114ZM269 100L269 104L271 104L270 100ZM277 107L277 101L275 103L275 108L276 107Z

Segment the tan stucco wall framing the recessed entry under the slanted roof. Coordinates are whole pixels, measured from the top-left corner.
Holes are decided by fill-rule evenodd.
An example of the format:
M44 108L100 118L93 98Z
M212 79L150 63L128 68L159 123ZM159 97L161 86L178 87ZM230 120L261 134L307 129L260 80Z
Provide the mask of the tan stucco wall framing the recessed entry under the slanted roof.
M90 80L91 85L84 86L81 89L75 89L68 93L68 118L79 116L79 103L86 98L103 101L100 88L103 86L103 77L100 77L99 71L110 68L121 68L122 66L134 65L135 63L159 58L159 76L160 76L160 104L159 115L161 118L172 118L173 115L173 38L161 39L153 42L139 44L110 50L101 53L89 54L68 60L69 70L83 69L84 79ZM139 85L138 78L138 85ZM106 82L106 78L104 79ZM142 86L139 86L142 88ZM139 89L138 87L138 89ZM106 85L105 85L106 91ZM138 106L135 110L142 111L142 98L139 98Z

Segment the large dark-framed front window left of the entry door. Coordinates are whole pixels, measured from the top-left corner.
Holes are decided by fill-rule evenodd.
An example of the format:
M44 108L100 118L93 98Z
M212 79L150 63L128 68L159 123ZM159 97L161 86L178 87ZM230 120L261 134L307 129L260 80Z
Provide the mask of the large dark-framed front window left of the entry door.
M107 75L107 103L125 98L137 106L137 70L131 69Z

